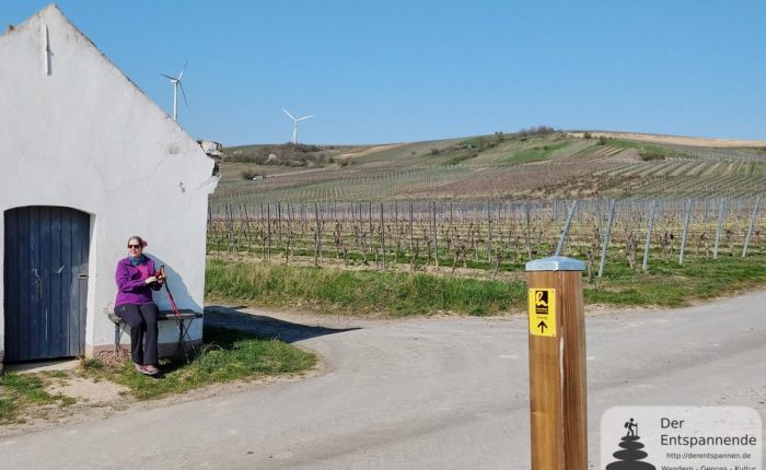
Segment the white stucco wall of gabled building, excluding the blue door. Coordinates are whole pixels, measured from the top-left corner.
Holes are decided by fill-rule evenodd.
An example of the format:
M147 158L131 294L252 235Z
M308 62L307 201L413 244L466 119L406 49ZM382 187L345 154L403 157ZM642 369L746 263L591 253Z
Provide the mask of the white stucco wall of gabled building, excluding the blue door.
M114 341L104 312L130 235L148 239L144 252L169 268L178 307L201 312L213 162L53 5L0 36L0 213L60 205L91 214L89 346ZM0 266L3 230L0 216ZM164 291L154 297L170 308ZM3 317L0 303L0 351ZM163 325L160 341L176 338Z

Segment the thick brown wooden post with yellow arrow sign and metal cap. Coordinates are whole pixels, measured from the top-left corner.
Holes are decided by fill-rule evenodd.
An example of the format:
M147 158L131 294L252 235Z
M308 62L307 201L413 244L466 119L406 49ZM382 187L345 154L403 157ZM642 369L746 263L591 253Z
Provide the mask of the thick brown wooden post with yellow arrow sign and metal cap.
M588 468L584 269L564 257L526 263L532 470Z

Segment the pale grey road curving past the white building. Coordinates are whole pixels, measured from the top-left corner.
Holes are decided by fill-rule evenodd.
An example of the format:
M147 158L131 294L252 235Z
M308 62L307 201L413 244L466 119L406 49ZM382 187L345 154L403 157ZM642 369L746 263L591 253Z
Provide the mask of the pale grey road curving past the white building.
M613 406L741 404L766 419L766 292L589 315L589 447ZM320 353L317 376L0 439L0 468L526 469L525 318L237 324ZM303 325L299 325L303 324Z

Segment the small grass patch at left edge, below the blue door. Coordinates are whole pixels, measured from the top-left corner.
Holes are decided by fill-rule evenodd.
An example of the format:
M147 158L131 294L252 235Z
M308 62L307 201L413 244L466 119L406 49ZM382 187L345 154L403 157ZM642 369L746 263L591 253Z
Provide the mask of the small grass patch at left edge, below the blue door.
M0 424L22 421L24 411L44 404L72 404L74 399L45 391L46 374L8 373L0 377Z

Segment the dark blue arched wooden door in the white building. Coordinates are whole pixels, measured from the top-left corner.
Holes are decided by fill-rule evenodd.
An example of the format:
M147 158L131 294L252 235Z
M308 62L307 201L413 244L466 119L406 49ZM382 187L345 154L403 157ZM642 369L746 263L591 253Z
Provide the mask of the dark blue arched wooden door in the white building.
M34 205L4 221L4 362L82 355L90 215Z

